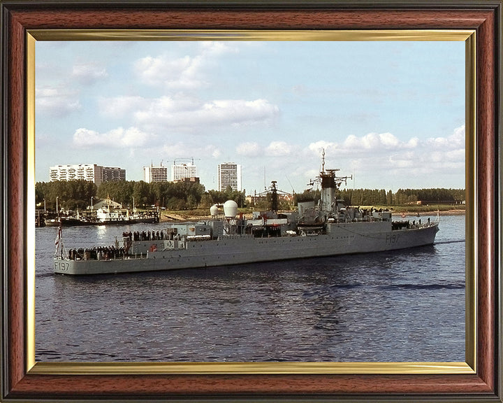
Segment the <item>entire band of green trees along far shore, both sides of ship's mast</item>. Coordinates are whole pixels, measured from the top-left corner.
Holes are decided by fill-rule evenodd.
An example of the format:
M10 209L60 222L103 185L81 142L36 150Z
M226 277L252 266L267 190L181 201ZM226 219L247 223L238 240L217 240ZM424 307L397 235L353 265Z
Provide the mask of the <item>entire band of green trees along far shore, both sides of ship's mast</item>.
M223 204L227 200L234 200L240 207L255 207L268 209L268 199L256 205L247 205L245 190L239 192L228 187L225 192L205 190L201 183L195 182L152 182L144 181L114 181L104 182L96 186L94 183L82 179L76 181L37 182L35 185L36 204L39 208L54 211L56 200L59 207L65 210L84 210L91 205L92 198L110 199L117 201L124 207L146 208L159 206L170 210L192 210L195 208L209 208L213 204ZM464 189L399 189L397 192L384 189L344 189L337 197L344 199L353 206L396 206L402 204L461 204L465 201ZM298 201L307 199L319 200L320 191L312 190L296 194L293 203L280 199L279 208L290 209Z

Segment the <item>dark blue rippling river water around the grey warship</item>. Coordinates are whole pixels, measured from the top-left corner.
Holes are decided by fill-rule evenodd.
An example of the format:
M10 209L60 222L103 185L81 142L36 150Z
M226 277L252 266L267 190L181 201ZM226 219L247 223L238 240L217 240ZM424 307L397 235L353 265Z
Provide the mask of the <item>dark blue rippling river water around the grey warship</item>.
M152 228L63 231L73 248ZM36 360L464 362L465 217L440 228L411 250L84 277L52 273L57 228L38 228Z

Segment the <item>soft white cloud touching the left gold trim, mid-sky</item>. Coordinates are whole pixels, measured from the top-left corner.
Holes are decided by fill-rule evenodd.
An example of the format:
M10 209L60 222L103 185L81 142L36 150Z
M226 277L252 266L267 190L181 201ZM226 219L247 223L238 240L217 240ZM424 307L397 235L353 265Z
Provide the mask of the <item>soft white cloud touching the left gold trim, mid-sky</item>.
M78 111L80 102L76 92L58 87L37 87L35 90L36 112L48 116L64 116Z

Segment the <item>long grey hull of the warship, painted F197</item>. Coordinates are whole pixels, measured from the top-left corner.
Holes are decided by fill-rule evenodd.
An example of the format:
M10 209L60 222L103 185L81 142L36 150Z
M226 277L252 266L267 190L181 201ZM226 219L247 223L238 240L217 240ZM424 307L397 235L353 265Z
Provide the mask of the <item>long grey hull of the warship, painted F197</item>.
M216 267L230 264L269 262L302 257L372 253L431 245L438 225L391 230L391 223L329 224L327 234L253 238L228 236L207 241L188 241L184 248L163 250L162 241L141 241L132 253L119 260L67 260L54 258L59 274L114 274ZM138 250L154 252L135 253Z

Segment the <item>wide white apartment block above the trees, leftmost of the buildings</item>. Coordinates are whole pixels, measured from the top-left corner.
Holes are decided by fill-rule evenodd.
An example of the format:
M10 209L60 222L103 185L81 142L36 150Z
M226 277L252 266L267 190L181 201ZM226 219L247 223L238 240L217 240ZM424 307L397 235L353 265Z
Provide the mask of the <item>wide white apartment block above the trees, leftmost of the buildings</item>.
M102 167L97 164L54 165L49 170L51 181L75 181L83 179L99 186L102 182L126 180L125 169Z

